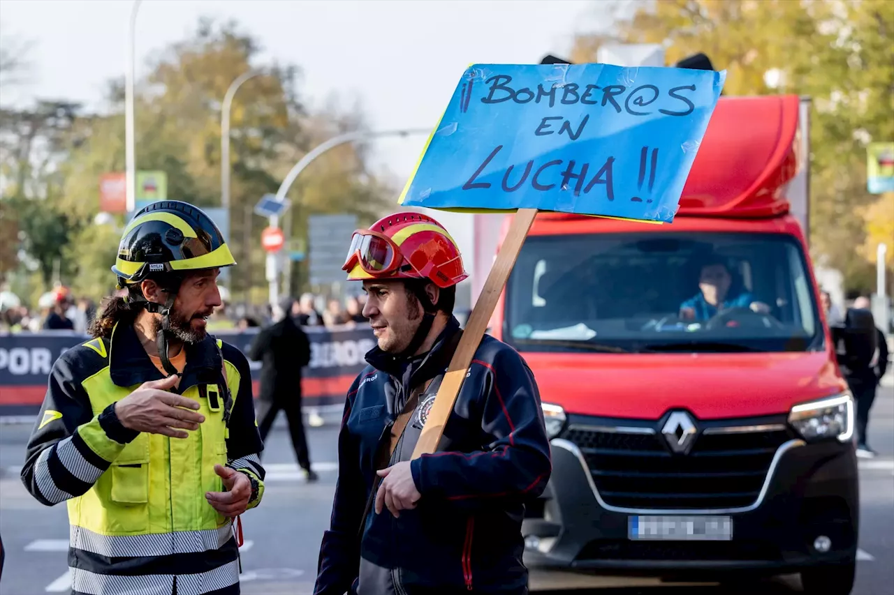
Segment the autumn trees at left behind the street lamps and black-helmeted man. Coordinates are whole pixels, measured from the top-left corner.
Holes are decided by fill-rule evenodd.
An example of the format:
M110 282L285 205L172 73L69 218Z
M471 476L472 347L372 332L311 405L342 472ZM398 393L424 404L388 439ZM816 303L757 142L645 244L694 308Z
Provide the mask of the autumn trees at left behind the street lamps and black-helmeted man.
M200 21L193 35L166 48L150 64L148 76L137 81L137 169L166 172L169 198L220 206L223 96L233 80L257 66L259 51L256 38L235 24ZM275 192L291 166L313 147L365 125L356 111L310 113L299 96L298 78L297 67L274 64L245 82L232 102L228 240L239 266L230 272L227 285L236 298L257 298L266 291L266 255L260 246L266 220L252 213L253 205ZM110 83L107 99L109 113L72 122L70 136L80 141L70 143L58 164L62 189L56 211L72 222L72 230L59 236L57 255L69 267L64 268L71 272L67 282L75 283L76 293L93 298L112 289L108 267L116 252L114 232L124 223L118 215L112 224L94 224L100 177L124 171L120 81ZM284 229L303 235L308 214L315 213L356 213L363 221L374 221L394 189L376 180L366 162L363 147L353 145L321 156L291 189L293 207ZM299 264L293 272L292 289L298 290L303 280Z

